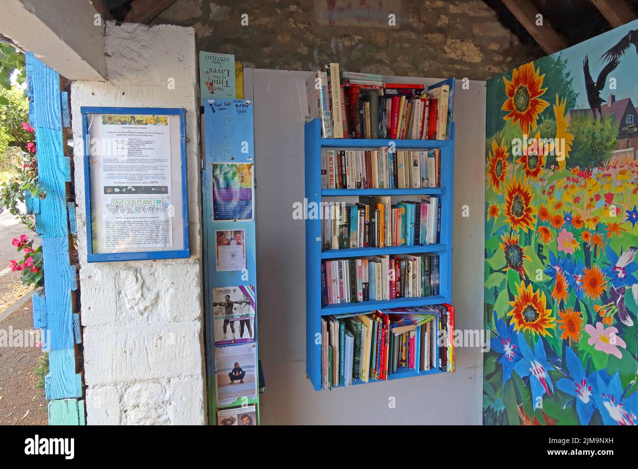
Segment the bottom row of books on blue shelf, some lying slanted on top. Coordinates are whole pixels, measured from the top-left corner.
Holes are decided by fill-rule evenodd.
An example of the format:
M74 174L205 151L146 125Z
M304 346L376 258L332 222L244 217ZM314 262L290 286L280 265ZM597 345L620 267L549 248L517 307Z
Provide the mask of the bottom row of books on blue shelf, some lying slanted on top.
M387 380L401 371L454 372L454 306L322 317L322 387Z

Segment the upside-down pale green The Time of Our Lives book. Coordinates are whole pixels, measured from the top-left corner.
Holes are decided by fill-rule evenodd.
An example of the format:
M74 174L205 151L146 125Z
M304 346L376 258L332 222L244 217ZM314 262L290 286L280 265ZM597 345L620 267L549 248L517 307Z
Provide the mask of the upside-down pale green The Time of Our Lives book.
M200 51L202 105L214 98L235 99L235 56Z

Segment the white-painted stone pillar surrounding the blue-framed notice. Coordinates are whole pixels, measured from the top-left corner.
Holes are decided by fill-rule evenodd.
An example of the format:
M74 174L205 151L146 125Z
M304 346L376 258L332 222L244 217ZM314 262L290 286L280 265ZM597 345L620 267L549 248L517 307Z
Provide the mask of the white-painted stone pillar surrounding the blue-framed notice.
M71 87L73 137L82 138L81 106L186 108L191 257L87 263L84 161L75 145L87 424L204 424L195 34L108 23L106 53L108 82Z

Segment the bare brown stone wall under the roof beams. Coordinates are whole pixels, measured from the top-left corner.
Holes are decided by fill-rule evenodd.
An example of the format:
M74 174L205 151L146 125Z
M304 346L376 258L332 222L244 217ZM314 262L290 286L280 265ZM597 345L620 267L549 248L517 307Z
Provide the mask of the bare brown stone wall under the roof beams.
M342 70L486 80L544 55L480 0L178 0L154 22L193 26L198 50L234 54L251 68L337 61Z

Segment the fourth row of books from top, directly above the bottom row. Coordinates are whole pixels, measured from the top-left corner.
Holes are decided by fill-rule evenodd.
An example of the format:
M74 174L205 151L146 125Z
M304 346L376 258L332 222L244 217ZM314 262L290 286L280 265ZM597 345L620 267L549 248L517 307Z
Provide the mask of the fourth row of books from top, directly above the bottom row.
M438 295L440 259L402 254L325 260L321 287L322 306Z

